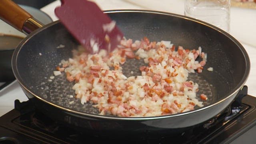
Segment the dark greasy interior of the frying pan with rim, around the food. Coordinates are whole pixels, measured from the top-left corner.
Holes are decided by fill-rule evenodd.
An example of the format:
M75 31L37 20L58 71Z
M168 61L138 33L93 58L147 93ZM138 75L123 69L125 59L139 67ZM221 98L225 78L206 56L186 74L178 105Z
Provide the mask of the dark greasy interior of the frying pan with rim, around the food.
M78 46L59 22L53 22L32 32L14 52L12 58L14 74L29 98L36 97L37 100L42 100L55 108L91 118L108 120L173 118L206 111L214 106L214 110L220 112L222 107L230 103L248 77L250 62L246 51L237 40L218 28L176 14L117 11L110 12L109 15L116 20L126 38L140 40L147 36L151 41L170 40L176 46L180 45L188 49L197 49L201 46L202 51L208 54L207 64L201 74L192 74L190 79L199 84L199 94L204 93L209 96L208 101L204 103L205 106L182 114L150 118L98 115L98 110L90 103L82 105L80 100L69 97L70 94L73 96L75 94L72 90L73 84L66 80L65 75L56 76L52 82L48 82L60 60L71 58L72 50ZM56 48L60 44L65 47ZM132 65L128 64L127 68L130 69ZM214 71L207 71L208 67L213 67ZM229 101L226 105L218 107L218 104L227 99ZM69 104L73 100L75 102Z

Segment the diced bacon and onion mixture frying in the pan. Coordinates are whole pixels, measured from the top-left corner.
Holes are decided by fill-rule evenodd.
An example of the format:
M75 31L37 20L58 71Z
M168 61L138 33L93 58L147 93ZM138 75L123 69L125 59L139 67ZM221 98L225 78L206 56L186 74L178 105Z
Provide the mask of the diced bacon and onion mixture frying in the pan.
M177 51L175 50L177 49ZM161 116L202 107L207 96L196 98L198 84L188 81L190 72L201 73L206 54L177 48L170 41L150 42L144 37L133 42L123 38L113 52L88 54L75 50L74 57L62 60L57 70L66 73L81 103L93 102L100 114L122 117ZM202 57L202 61L196 58ZM143 58L148 66L140 67L140 76L127 78L122 64L128 58Z

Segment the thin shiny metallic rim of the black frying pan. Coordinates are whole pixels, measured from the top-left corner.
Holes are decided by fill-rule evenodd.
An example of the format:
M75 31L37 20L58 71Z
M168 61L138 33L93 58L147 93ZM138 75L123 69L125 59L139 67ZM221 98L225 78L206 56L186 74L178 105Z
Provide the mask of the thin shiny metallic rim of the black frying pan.
M173 14L173 13L169 13L169 12L161 12L161 11L154 11L154 10L108 10L108 11L104 11L105 13L116 13L116 12L142 12L142 13L152 13L152 14L164 14L164 15L168 15L168 16L174 16L174 17L178 17L178 18L183 18L186 20L190 20L190 21L194 21L196 23L208 26L222 34L224 34L227 38L229 38L230 40L232 40L238 47L239 49L242 51L242 54L244 56L245 59L245 72L244 72L244 76L242 77L242 80L230 91L226 94L226 97L223 98L222 100L219 100L218 102L215 102L213 104L210 104L208 106L204 106L202 108L198 108L196 110L191 110L188 112L182 112L182 113L178 113L178 114L170 114L170 115L166 115L166 116L151 116L151 117L117 117L117 116L105 116L105 115L99 115L99 114L89 114L89 113L84 113L84 112L78 112L76 110L70 110L68 108L64 108L62 106L59 106L57 104L54 104L52 102L49 102L47 100L44 100L43 98L41 98L40 96L34 94L31 90L29 90L29 88L26 86L26 84L22 81L22 78L20 77L20 74L18 72L18 68L17 68L17 58L18 58L18 54L20 52L20 50L22 49L23 45L34 35L36 35L37 33L39 33L40 31L55 25L57 23L59 23L60 21L57 20L55 22L52 22L50 24L47 24L45 26L43 26L42 28L38 28L37 30L35 30L34 32L30 33L26 38L24 38L24 40L22 40L20 42L20 44L17 46L17 48L14 50L13 56L12 56L12 69L14 72L14 76L16 77L17 81L19 82L19 84L22 86L22 88L24 88L26 91L28 91L30 94L32 94L35 98L42 100L43 102L46 102L47 104L50 104L51 106L54 106L56 108L60 108L61 110L64 110L66 112L70 112L70 113L74 113L74 114L79 114L81 116L89 116L92 118L101 118L101 119L107 119L107 120L157 120L157 119L163 119L163 118L171 118L171 117L178 117L178 116L183 116L186 114L192 114L198 111L202 111L205 109L208 109L212 106L218 105L222 102L224 102L225 100L227 100L228 98L230 98L231 96L233 96L234 94L237 94L238 91L244 86L249 73L250 73L250 59L249 56L245 50L245 48L242 46L242 44L240 44L240 42L238 42L238 40L236 40L233 36L231 36L230 34L228 34L227 32L225 32L224 30L221 30L220 28L213 26L212 24L208 24L206 22L203 22L201 20L197 20L194 18L190 18L187 16L183 16L183 15L179 15L179 14Z

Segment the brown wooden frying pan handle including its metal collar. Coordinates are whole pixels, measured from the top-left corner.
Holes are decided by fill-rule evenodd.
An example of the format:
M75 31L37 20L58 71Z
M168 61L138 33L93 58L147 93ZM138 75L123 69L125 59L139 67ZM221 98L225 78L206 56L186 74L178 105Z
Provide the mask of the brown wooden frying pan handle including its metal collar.
M26 35L43 26L12 0L1 0L0 19Z

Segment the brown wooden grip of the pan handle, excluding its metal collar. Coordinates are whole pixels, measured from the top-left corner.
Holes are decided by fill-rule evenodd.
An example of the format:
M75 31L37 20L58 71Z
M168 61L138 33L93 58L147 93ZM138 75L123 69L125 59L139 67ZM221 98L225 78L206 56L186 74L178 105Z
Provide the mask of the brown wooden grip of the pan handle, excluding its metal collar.
M22 31L24 22L28 18L32 18L32 16L12 0L1 0L0 3L0 18L14 28Z

